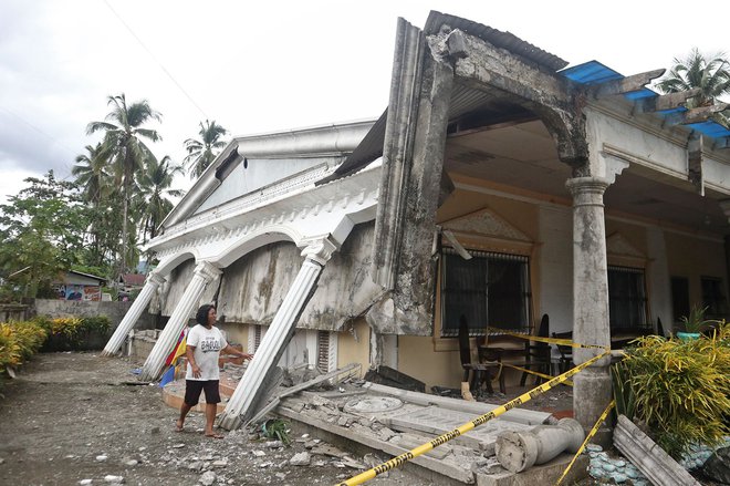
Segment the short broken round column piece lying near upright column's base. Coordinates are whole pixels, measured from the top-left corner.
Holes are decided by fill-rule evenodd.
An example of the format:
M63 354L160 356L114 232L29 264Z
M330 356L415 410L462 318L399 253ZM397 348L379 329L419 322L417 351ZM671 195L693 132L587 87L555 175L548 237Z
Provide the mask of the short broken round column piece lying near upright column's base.
M561 418L557 425L538 425L526 432L505 432L497 437L497 461L508 471L520 473L543 464L563 452L575 454L585 433L574 418Z

